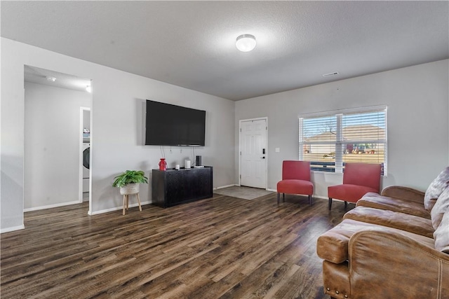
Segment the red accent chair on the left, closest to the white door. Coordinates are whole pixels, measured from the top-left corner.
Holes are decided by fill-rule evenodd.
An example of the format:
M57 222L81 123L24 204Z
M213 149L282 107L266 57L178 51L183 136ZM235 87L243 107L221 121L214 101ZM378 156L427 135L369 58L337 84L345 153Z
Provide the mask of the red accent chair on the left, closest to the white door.
M314 184L310 181L310 162L283 161L282 181L278 182L278 204L282 193L282 201L286 201L287 194L309 195L309 204L312 204L311 195L314 194Z

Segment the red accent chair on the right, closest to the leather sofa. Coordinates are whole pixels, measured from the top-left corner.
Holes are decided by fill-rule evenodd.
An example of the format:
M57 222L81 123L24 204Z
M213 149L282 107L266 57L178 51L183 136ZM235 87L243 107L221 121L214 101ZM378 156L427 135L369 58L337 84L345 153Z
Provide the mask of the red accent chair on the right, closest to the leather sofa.
M368 192L380 192L380 173L382 165L368 163L346 163L343 172L343 184L328 187L329 209L332 199L356 203Z

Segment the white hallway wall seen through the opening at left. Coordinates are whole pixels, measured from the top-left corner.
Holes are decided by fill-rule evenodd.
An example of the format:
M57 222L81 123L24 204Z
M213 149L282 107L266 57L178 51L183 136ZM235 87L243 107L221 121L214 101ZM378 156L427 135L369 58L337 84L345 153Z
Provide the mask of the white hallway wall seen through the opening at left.
M79 201L80 107L91 99L25 82L25 209Z

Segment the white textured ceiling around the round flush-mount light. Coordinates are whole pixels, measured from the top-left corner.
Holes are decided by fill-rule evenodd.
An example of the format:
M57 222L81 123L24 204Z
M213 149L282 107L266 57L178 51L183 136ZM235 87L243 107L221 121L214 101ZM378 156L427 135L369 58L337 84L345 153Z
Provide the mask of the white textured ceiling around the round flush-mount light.
M233 100L447 59L448 28L448 1L1 1L3 37Z

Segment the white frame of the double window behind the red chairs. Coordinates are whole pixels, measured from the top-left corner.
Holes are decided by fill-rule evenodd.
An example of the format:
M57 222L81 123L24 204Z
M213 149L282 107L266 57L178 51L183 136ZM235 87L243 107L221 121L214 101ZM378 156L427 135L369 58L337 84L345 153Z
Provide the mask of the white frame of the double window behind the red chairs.
M363 113L373 113L373 112L384 112L385 117L385 139L378 139L378 140L370 140L370 139L357 139L357 140L350 140L350 141L344 141L342 136L342 130L343 130L343 116L349 115L349 114L363 114ZM335 141L304 141L304 124L303 121L305 118L326 118L326 117L335 117ZM299 149L299 160L304 160L304 146L305 145L313 145L313 144L329 144L329 145L335 145L335 161L334 162L318 162L319 165L323 165L323 169L312 169L313 172L328 172L328 173L335 173L335 174L342 174L344 171L344 164L343 162L343 146L345 144L382 144L384 146L384 162L382 163L382 176L387 177L387 157L388 157L388 124L387 124L387 105L379 105L379 106L369 106L369 107L361 107L361 108L355 108L355 109L341 109L341 110L334 110L334 111L322 111L317 113L304 113L300 114L298 116L298 149ZM337 149L340 148L340 151ZM311 161L313 162L313 161ZM334 166L334 168L328 168L331 170L325 170L326 166ZM333 169L333 170L332 170Z

